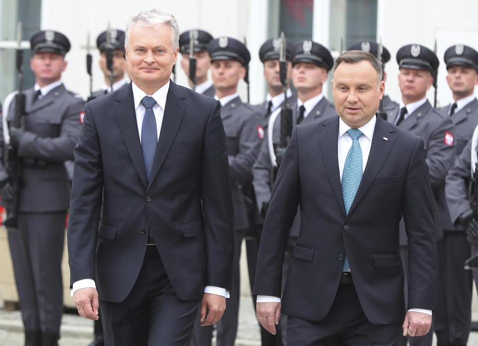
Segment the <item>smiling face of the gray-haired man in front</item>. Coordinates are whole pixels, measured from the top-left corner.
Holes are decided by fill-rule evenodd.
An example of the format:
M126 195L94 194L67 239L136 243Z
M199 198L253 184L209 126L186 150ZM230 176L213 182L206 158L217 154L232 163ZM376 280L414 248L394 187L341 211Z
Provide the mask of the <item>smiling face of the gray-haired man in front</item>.
M161 88L169 81L178 49L173 49L167 24L134 24L129 32L126 61L131 79L139 87Z

